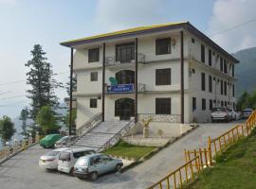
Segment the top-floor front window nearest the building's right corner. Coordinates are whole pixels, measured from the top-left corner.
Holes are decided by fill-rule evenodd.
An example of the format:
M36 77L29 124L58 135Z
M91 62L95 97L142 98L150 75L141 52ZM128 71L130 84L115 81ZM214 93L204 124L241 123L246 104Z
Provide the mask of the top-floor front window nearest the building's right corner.
M171 54L171 38L155 40L155 55Z

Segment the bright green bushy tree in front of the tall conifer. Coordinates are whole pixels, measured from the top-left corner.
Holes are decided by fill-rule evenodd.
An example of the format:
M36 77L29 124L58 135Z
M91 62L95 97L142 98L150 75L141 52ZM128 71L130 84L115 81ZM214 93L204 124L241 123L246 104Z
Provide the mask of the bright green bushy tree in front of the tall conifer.
M49 105L43 106L36 116L36 123L42 129L44 134L58 132L60 127L57 119Z

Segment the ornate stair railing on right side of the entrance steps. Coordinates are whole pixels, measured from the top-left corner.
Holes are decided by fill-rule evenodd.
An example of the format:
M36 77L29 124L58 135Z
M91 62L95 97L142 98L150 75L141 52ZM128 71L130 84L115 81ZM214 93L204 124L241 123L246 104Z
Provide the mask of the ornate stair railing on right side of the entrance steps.
M101 152L110 146L116 145L119 142L120 137L126 134L129 130L133 129L135 125L135 119L131 119L122 129L119 130L118 133L111 137L104 145L99 147L97 151Z

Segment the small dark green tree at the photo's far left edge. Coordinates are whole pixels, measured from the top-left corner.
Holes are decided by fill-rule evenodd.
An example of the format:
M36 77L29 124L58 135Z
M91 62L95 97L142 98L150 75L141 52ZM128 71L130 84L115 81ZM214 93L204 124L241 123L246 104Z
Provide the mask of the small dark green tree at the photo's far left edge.
M14 124L11 122L9 116L4 115L0 119L0 135L2 141L8 142L13 134L15 133L16 129L14 129Z

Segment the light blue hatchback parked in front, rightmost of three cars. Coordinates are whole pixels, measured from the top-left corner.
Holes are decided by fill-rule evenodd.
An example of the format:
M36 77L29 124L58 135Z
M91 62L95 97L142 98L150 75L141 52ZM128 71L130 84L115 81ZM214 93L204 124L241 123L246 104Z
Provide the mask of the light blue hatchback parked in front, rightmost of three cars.
M119 171L123 165L119 159L97 153L81 157L74 166L74 175L79 179L90 178L97 180L98 176L104 173Z

